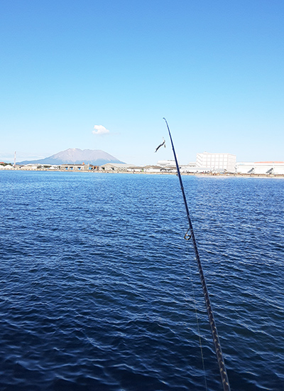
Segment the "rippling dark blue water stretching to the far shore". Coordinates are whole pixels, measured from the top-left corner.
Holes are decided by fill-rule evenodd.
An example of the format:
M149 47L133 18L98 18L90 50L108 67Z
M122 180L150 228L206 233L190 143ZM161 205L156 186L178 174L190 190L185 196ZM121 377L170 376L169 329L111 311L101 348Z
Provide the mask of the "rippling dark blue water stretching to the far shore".
M284 390L284 180L182 179L231 390ZM177 176L0 194L0 390L222 390Z

